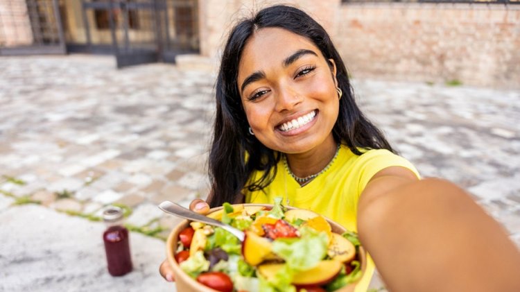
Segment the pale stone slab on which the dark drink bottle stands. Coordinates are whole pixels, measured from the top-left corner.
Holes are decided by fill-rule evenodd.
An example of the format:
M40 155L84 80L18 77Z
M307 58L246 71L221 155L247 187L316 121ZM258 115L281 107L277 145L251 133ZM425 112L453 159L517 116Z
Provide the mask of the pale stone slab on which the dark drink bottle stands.
M166 255L160 239L130 232L134 269L122 277L112 277L107 273L103 223L38 205L2 207L0 222L2 292L175 292L175 285L157 272L156 263Z

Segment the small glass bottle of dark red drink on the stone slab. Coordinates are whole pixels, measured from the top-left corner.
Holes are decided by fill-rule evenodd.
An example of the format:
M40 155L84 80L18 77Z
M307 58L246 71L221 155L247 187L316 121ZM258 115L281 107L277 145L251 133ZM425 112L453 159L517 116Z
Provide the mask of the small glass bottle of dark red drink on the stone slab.
M103 221L107 230L103 233L105 252L107 254L108 273L122 276L132 270L130 241L128 230L123 226L123 209L108 207L103 212Z

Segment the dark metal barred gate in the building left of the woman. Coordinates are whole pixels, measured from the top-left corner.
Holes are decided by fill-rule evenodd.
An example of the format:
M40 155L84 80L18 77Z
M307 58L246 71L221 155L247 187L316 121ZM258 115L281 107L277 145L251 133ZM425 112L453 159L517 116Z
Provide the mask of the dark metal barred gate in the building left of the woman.
M81 0L87 46L107 41L118 67L198 51L196 0ZM104 38L102 38L104 37ZM105 43L106 44L106 43Z

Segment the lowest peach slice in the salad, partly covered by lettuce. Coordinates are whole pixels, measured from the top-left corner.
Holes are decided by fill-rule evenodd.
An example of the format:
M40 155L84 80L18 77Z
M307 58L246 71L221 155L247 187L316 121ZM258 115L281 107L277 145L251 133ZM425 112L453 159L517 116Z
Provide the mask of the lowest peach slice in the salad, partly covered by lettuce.
M272 280L284 264L263 264L258 266L258 272L266 280ZM296 273L293 284L297 286L320 286L331 282L340 273L342 264L339 261L323 260L310 270Z

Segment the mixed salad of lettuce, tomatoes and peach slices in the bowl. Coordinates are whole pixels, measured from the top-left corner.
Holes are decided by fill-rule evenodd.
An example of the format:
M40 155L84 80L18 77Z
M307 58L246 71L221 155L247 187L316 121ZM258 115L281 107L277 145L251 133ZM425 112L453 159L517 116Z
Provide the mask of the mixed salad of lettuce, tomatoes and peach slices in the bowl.
M331 232L309 210L229 205L208 215L245 232L240 242L199 222L179 234L175 260L198 282L223 292L335 291L361 277L357 234Z

